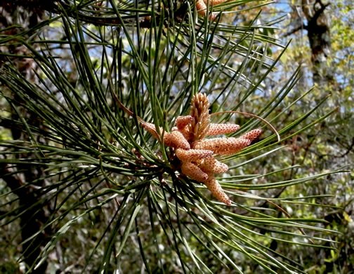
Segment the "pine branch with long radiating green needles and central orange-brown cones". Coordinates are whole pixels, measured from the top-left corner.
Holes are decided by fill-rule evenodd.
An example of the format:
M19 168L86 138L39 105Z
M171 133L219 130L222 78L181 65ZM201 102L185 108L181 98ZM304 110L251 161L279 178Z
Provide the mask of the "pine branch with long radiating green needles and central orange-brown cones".
M258 51L280 46L260 33L272 22L221 23L230 16L222 11L251 2L213 6L210 20L194 1L56 1L31 29L1 30L0 48L25 48L1 53L0 126L23 138L5 131L0 140L0 220L27 273L47 264L81 273L303 273L269 243L335 249L323 220L283 209L320 206L307 199L322 195L269 190L340 171L273 180L295 167L247 169L331 114L311 119L322 100L281 124L301 100L281 104L296 70L256 113L282 140L252 116L230 116L252 103L281 57ZM16 67L23 58L33 79ZM228 136L209 137L219 134ZM37 176L24 178L29 169ZM27 230L21 220L38 211L46 218ZM30 233L19 239L21 230Z

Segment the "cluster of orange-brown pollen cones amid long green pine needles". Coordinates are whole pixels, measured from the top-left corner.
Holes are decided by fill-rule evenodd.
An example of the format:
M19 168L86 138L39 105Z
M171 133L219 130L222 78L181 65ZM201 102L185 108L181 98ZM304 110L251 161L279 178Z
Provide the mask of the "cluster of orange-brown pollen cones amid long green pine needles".
M144 123L142 126L152 136L159 138L155 125ZM219 162L214 155L232 155L247 147L261 135L261 129L251 130L239 138L208 138L219 134L232 133L240 129L237 124L211 124L209 100L202 93L192 98L190 115L176 119L171 133L164 133L164 145L174 148L181 160L181 172L190 178L203 182L220 202L231 205L214 174L228 171L228 166ZM161 129L162 131L162 129Z

